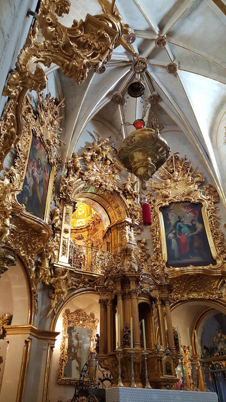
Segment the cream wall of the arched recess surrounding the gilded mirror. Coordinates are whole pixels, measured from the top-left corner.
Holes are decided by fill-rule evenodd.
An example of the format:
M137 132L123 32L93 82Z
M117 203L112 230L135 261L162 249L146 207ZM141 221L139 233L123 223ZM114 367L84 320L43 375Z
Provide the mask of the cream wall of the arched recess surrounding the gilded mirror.
M74 395L74 385L58 384L58 373L60 367L60 348L63 333L63 314L69 314L83 310L86 314L100 320L99 295L93 291L75 291L71 293L64 304L61 306L57 316L51 322L51 330L60 332L55 341L53 349L53 357L51 364L51 374L49 381L49 395L53 400L70 400ZM97 325L97 333L100 332L99 324Z

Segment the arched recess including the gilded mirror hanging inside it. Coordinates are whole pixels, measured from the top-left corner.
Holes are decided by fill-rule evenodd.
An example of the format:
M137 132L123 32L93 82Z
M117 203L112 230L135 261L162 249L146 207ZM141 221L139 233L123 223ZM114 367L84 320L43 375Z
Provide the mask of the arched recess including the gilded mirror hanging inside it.
M78 324L77 318L82 325ZM99 334L99 320L99 295L90 291L71 294L58 316L54 318L52 328L60 334L53 349L49 380L49 395L53 400L72 399L82 367L88 360L88 348L92 338L88 321L96 322L94 332ZM62 379L59 382L60 376Z

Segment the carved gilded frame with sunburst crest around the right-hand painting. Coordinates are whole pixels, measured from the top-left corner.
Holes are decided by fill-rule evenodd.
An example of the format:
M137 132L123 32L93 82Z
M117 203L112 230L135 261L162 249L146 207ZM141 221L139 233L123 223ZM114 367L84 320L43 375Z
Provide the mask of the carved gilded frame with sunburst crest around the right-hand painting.
M164 271L167 271L172 278L179 275L182 270L185 270L186 273L191 273L191 271L193 273L201 273L205 268L220 275L221 271L225 271L226 269L224 257L226 255L226 246L224 244L224 235L219 229L218 208L215 205L219 201L219 197L216 189L210 184L204 186L203 190L199 188L204 178L202 173L196 172L196 169L192 168L192 163L187 162L186 155L184 158L179 158L177 154L173 154L167 160L165 167L158 170L160 183L157 180L150 182L151 190L157 194L157 198L151 194L148 195L152 215L152 226L150 229L154 247L154 254L150 257L151 263L148 265L148 271L150 272L162 271L164 273ZM160 207L167 207L170 203L186 201L192 204L202 204L203 224L210 250L216 263L215 265L211 263L204 267L195 267L191 264L191 260L191 263L186 268L174 269L170 267L166 269L168 258L166 235ZM171 217L169 216L168 219L171 219ZM196 228L196 230L198 229Z

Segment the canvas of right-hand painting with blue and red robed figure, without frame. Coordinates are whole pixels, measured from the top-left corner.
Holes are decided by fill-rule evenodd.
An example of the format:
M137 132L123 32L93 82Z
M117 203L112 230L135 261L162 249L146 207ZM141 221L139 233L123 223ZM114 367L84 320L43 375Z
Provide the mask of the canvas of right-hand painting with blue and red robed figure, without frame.
M166 234L167 266L214 264L201 213L202 204L171 203L161 207Z

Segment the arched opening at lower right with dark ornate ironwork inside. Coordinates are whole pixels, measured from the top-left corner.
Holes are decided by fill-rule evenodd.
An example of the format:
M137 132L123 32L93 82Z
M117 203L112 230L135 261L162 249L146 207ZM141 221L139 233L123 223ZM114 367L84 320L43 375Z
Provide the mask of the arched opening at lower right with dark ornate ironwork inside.
M189 338L192 355L195 361L196 383L200 390L204 390L201 366L198 363L199 353L203 358L205 381L210 391L218 394L219 402L226 398L226 308L217 300L191 300L179 302L172 306L171 316L173 326L179 329L181 346L187 349ZM187 330L188 328L188 330ZM197 332L197 342L195 340ZM189 332L189 338L188 338ZM219 336L220 335L220 336ZM185 362L186 359L184 359ZM191 365L189 359L185 363L186 381L189 389L192 388Z

